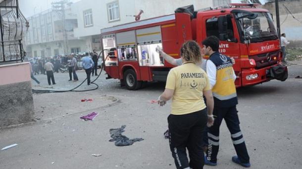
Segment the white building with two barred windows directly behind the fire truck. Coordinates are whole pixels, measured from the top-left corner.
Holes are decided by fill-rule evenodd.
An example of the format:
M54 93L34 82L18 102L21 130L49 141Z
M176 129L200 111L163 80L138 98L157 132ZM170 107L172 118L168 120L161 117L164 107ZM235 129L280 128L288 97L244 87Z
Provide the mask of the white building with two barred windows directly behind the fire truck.
M229 0L80 0L71 4L77 15L75 37L85 40L86 50L101 50L101 29L134 22L140 10L141 20L172 14L178 7L193 4L195 9L226 5Z

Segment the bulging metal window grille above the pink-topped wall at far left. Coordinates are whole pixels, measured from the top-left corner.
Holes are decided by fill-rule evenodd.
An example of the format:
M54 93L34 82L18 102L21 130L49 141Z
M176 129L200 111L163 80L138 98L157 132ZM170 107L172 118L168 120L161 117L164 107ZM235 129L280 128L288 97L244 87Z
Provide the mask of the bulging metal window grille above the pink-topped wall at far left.
M26 53L21 41L28 27L18 0L0 2L0 62L23 60Z

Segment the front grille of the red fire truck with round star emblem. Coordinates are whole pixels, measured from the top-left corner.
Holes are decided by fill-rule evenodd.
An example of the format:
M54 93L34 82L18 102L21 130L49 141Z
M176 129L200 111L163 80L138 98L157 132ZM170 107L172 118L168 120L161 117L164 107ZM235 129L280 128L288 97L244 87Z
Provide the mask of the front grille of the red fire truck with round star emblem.
M256 62L256 69L268 67L271 65L277 64L279 60L279 53L280 50L268 52L268 53L262 53L258 55L252 55L249 56L249 59L253 59ZM274 60L274 57L276 57L276 60Z

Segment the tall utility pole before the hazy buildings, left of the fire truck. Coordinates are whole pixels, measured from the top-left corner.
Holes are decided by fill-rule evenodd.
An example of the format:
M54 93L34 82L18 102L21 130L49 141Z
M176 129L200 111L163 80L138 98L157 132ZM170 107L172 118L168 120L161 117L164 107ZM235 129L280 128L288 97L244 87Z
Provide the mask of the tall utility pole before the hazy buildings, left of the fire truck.
M67 3L66 0L61 0L58 2L52 2L52 10L59 13L61 16L61 20L63 22L63 52L64 55L68 54L68 35L66 32L66 19L65 19L65 4Z

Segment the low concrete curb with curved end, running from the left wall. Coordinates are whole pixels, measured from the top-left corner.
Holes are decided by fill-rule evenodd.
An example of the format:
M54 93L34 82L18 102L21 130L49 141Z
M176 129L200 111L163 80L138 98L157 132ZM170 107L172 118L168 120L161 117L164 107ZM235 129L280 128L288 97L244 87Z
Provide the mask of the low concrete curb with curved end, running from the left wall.
M80 114L80 113L83 113L83 112L86 112L86 111L92 111L92 110L95 110L95 109L98 109L98 108L110 107L110 106L113 106L113 105L116 104L116 103L120 103L120 102L121 102L121 101L119 100L119 98L117 98L116 96L112 96L112 95L103 95L103 96L113 97L113 98L116 99L116 100L115 100L115 101L112 101L111 103L108 103L108 104L105 104L105 105L101 105L101 106L99 106L99 107L87 109L87 110L85 110L85 111L78 111L78 112L66 114L66 115L64 115L63 117L71 116L71 115L74 115L74 114ZM29 126L29 125L33 125L33 124L41 124L41 123L44 123L44 122L51 123L52 120L57 120L57 119L59 119L59 118L62 118L62 116L52 117L52 118L48 118L48 119L44 119L44 120L36 120L36 119L33 119L33 122L21 123L21 124L10 125L10 126L2 126L2 127L0 127L0 132L1 132L1 130L5 130L5 129L18 128L18 127Z

